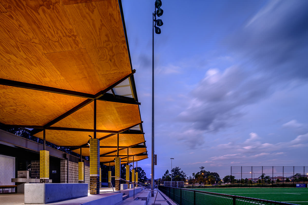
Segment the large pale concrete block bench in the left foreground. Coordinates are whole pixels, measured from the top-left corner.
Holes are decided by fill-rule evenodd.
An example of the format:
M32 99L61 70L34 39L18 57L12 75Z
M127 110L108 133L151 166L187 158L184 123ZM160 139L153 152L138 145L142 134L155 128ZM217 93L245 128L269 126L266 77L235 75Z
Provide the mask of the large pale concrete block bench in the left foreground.
M88 195L87 183L25 184L26 203L50 203Z

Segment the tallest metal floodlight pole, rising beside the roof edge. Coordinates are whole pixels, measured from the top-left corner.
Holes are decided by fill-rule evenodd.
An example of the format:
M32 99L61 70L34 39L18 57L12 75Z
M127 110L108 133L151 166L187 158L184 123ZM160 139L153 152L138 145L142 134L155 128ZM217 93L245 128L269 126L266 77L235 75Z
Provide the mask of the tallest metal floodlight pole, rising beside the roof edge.
M154 6L155 7L155 6ZM152 28L152 177L151 177L151 190L154 190L154 15L156 14L156 7L155 12L152 14L153 19L153 28ZM154 197L154 191L151 194Z

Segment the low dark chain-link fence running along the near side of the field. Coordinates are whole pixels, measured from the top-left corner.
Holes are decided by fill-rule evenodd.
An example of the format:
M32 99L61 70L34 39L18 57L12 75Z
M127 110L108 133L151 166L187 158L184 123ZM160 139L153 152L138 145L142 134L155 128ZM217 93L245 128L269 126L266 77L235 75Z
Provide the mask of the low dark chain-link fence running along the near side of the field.
M158 186L158 189L179 205L285 205L278 201L255 199L244 196L219 194L208 191ZM294 204L293 204L294 205Z

